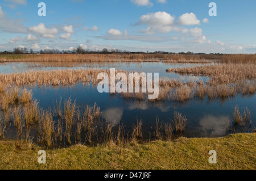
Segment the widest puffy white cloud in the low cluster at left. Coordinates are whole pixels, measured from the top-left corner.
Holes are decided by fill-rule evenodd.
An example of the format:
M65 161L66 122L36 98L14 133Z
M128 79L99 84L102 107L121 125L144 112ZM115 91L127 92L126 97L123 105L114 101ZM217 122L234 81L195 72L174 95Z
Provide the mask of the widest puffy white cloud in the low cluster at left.
M38 33L39 36L48 38L48 39L56 39L56 35L58 34L57 28L46 28L44 23L40 23L37 26L28 28L30 32Z

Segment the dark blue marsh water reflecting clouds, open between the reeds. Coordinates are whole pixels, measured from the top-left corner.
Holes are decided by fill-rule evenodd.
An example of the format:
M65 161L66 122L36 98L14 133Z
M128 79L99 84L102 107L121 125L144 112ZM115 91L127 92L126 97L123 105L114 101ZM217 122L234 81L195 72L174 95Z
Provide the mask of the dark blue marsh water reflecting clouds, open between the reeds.
M196 74L179 74L168 72L167 69L195 68L197 66L209 66L210 64L178 64L167 62L6 62L0 66L0 74L25 73L27 71L51 71L51 70L79 70L79 69L106 69L115 68L116 70L126 70L159 73L163 80L175 79L182 83L203 82L207 84L208 76ZM214 87L215 85L212 85ZM134 125L138 126L138 120L142 123L141 131L145 140L154 140L158 138L157 134L166 132L165 125L174 124L175 112L181 113L186 117L184 131L175 132L172 128L174 137L218 137L230 133L253 132L256 126L256 96L255 94L234 94L224 99L213 98L208 96L191 96L189 99L180 101L179 99L164 99L157 101L148 101L137 98L127 98L119 94L100 93L97 86L92 82L82 83L77 81L72 85L22 85L32 91L32 98L38 100L38 107L43 110L55 110L59 100L71 99L75 102L77 110L84 112L88 106L95 103L100 108L99 119L107 121L113 127L114 131L118 130L120 125L123 126L123 133L127 136L134 131ZM188 87L188 85L186 85ZM23 88L22 88L23 89ZM179 90L177 90L179 91ZM197 90L196 90L197 92ZM197 94L197 93L196 93ZM71 104L72 105L72 104ZM61 108L64 112L64 104ZM250 117L244 125L236 124L235 108L239 108L241 116L246 108L250 110ZM13 107L12 107L13 108ZM4 117L4 111L1 112ZM56 111L55 111L56 113ZM61 116L60 116L61 117ZM75 116L77 117L77 116ZM241 118L242 119L242 118ZM57 127L58 116L53 116ZM95 120L94 120L95 121ZM102 123L103 123L102 122ZM71 140L76 140L77 127L75 121L71 128ZM175 125L173 125L175 127ZM66 124L63 124L67 129ZM24 129L26 129L24 127ZM100 129L99 129L100 130ZM30 134L36 137L38 131L32 127ZM82 134L82 133L81 133ZM84 133L85 134L85 133ZM104 133L105 134L105 133ZM86 136L87 135L87 136ZM88 134L80 135L81 140L86 142ZM67 136L67 135L65 135ZM138 135L137 135L138 136ZM6 138L16 138L16 131L13 126L5 132ZM92 136L93 137L93 136ZM93 138L92 138L93 139Z

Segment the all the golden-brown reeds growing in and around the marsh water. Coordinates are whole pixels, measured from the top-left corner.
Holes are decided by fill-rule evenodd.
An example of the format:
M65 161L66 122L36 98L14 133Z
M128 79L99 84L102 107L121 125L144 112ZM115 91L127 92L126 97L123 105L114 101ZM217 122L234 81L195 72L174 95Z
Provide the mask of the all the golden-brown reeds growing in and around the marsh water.
M214 60L214 64L167 69L167 73L206 77L207 79L188 81L178 78L160 78L157 99L147 99L148 93L142 93L141 89L138 93L114 92L109 96L117 96L123 101L135 100L143 104L148 102L152 105L160 105L159 107L162 108L166 102L179 105L193 100L199 100L199 102L221 100L223 103L237 96L255 95L254 55L224 55L218 56L220 60L217 61L216 57L177 54L42 54L39 56L5 56L1 57L1 61L104 62L106 60L107 62L162 61L204 64L209 63L210 58ZM81 106L77 104L76 99L72 100L69 97L63 101L53 99L53 104L49 103L47 108L42 108L39 106L40 100L36 100L31 91L33 87L65 89L64 87L77 84L97 91L96 88L100 82L97 75L102 72L110 75L108 69L81 68L0 74L0 138L8 136L15 130L15 138L18 142L26 140L28 145L35 143L56 147L77 143L90 146L137 145L152 140L170 141L183 135L191 117L187 117L186 113L181 113L176 108L172 109L170 116L166 117L167 120L159 119L158 115L151 117L150 119L154 119L155 123L150 128L147 125L148 117L137 117L132 121L132 126L127 127L121 124L120 120L118 124L113 123L113 120L108 120L104 116L105 111L100 108L102 104L101 106L96 103ZM122 69L116 70L115 74L121 72L128 74L127 70ZM135 86L135 81L133 83ZM142 79L140 78L139 86L141 85ZM225 118L222 123L226 130L222 134L248 132L248 128L253 129L254 122L251 115L254 115L254 112L250 112L247 107L238 106L233 107L232 112L232 118ZM144 127L146 129L143 129Z

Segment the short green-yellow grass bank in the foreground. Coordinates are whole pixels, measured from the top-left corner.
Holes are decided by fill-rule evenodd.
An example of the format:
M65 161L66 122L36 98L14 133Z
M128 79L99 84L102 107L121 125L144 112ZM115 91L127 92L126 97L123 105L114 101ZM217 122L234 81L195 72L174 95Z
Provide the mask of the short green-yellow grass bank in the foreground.
M46 165L37 162L42 148L25 147L0 141L0 169L256 169L256 133L179 138L127 148L76 145L46 150ZM210 150L217 151L217 164L209 164Z

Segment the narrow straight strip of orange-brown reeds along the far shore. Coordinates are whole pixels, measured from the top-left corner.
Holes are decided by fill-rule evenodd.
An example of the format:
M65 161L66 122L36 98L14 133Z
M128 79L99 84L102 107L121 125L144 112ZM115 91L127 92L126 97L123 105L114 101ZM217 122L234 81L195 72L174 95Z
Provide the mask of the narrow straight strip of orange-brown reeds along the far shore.
M163 54L163 53L127 53L127 54L20 54L0 56L0 62L20 62L20 61L45 61L45 62L191 62L191 63L209 63L206 60L215 59L216 56L203 56L195 54Z

